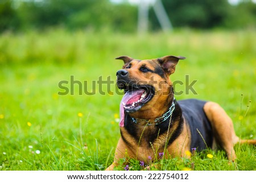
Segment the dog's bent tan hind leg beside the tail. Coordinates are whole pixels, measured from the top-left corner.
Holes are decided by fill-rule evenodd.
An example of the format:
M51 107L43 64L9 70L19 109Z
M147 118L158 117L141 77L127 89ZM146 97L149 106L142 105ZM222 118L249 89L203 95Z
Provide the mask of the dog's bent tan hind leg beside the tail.
M228 159L234 161L236 159L234 144L239 142L239 138L234 131L232 119L220 105L214 102L207 102L204 111L212 125L214 139L225 150Z

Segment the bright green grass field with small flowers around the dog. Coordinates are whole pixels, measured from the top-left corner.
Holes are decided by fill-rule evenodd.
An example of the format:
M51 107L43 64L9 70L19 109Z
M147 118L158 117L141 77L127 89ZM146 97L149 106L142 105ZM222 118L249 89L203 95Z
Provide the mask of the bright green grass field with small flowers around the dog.
M141 37L64 30L2 34L0 170L104 170L111 164L119 138L122 96L115 84L101 87L96 82L94 88L93 81L109 77L114 82L115 72L122 67L122 61L114 58L121 55L187 57L177 65L171 80L197 80L193 86L197 94L183 93L176 99L218 102L233 119L238 136L256 139L255 53L255 30L180 30ZM80 95L78 84L73 94L58 94L64 91L58 86L60 81L68 81L71 91L71 77L95 94L82 89ZM185 90L185 84L175 89ZM158 163L162 170L256 170L255 146L235 148L237 165L228 164L223 151L212 150L196 152L191 160ZM142 169L137 161L129 167Z

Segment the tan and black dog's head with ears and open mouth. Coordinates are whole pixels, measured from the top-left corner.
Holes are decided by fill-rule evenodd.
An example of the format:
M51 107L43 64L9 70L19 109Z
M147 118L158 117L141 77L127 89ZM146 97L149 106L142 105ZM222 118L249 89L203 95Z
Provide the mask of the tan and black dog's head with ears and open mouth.
M169 76L175 72L176 64L182 56L164 56L158 59L137 60L121 56L123 69L117 72L117 85L125 90L120 107L121 112L131 115L141 114L152 108L159 109L159 104L173 98L172 82ZM122 120L122 115L121 115Z

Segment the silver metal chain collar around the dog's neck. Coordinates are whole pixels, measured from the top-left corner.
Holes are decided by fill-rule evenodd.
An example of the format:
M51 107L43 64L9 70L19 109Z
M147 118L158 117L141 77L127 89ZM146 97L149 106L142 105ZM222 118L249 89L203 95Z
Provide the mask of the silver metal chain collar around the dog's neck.
M175 101L175 98L174 98L174 101ZM137 123L138 124L138 121L144 121L144 122L147 122L147 126L151 126L151 125L159 125L160 123L166 121L166 119L168 119L171 115L172 115L172 112L174 111L175 109L175 103L174 101L172 101L172 105L171 107L168 109L168 111L166 113L164 113L162 115L162 117L159 117L159 118L156 118L155 121L153 123L150 123L150 120L147 120L147 119L135 119L135 118L131 118L133 120L134 123ZM163 120L162 120L163 119ZM162 120L162 121L161 121Z

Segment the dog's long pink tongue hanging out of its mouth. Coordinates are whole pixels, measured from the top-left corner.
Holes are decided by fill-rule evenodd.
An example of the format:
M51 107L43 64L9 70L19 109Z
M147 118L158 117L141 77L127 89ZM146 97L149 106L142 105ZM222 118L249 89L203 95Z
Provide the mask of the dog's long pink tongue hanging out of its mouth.
M125 108L123 108L123 104L128 105L128 104L133 104L133 102L138 101L143 92L145 90L143 89L136 89L136 90L131 90L129 92L126 92L125 95L122 98L122 101L120 103L120 122L119 126L123 127L125 126Z

